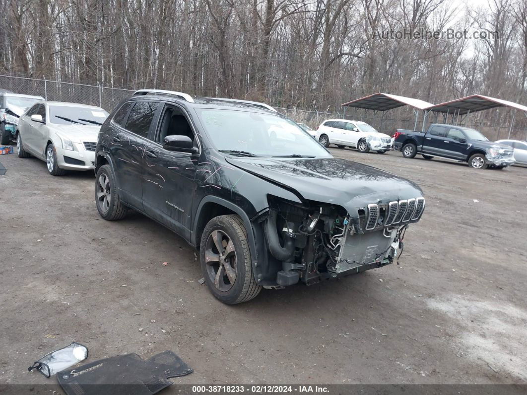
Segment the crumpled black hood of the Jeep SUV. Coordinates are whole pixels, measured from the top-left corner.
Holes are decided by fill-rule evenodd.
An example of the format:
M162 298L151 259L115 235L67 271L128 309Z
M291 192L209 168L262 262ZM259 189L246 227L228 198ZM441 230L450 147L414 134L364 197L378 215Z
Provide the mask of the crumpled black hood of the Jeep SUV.
M231 165L294 190L304 199L335 204L356 213L370 203L385 204L423 196L412 181L339 158L231 158ZM353 214L352 214L353 215Z

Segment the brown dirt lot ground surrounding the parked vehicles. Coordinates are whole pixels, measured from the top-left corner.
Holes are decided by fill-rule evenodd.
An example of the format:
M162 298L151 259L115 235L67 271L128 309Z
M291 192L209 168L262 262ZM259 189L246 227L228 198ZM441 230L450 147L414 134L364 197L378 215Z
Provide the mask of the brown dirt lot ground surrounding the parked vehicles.
M173 350L194 369L178 383L524 383L527 169L331 151L423 188L400 265L237 306L178 236L101 219L92 172L0 156L0 383L54 381L27 367L73 340L89 361Z

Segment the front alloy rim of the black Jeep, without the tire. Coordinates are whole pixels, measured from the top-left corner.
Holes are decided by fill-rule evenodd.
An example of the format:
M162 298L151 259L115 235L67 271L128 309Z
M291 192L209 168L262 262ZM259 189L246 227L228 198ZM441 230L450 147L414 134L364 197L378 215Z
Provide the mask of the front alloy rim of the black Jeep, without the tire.
M227 292L236 281L236 251L230 237L222 230L213 230L205 247L205 263L209 279L219 291Z

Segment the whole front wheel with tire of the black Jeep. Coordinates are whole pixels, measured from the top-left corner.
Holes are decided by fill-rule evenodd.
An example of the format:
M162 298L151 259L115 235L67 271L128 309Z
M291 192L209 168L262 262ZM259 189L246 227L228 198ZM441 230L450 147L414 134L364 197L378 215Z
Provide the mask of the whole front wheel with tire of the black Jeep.
M209 221L201 235L200 263L210 292L225 304L247 302L261 291L252 273L247 231L237 215Z

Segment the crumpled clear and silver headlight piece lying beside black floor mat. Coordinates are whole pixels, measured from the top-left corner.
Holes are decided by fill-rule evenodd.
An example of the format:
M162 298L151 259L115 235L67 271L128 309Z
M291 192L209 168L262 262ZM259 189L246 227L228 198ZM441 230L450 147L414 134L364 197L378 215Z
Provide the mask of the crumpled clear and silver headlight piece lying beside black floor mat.
M88 349L85 345L72 342L62 349L55 350L44 355L27 368L28 371L38 370L47 378L63 369L69 368L77 362L84 361L88 357Z

